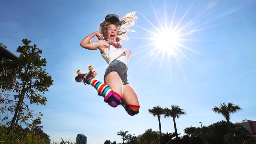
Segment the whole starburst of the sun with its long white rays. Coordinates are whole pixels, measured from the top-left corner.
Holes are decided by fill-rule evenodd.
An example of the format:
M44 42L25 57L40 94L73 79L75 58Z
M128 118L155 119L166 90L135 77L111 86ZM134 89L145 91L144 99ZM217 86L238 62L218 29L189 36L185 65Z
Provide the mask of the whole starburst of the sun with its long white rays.
M207 76L207 74L205 74L205 72L203 72L203 70L186 53L190 52L191 54L200 55L207 59L211 59L213 61L216 61L216 60L212 59L211 57L209 57L207 55L202 54L201 52L198 52L197 50L191 48L190 46L186 46L186 44L184 44L184 42L215 41L215 40L207 40L207 39L195 39L195 38L191 39L191 35L193 37L194 33L197 33L199 31L203 31L203 30L207 30L209 28L213 28L215 26L220 25L221 23L220 24L212 24L212 25L206 25L206 24L212 22L213 20L224 17L226 15L234 13L235 11L238 11L238 10L248 6L248 4L244 5L244 6L240 6L232 11L227 11L226 13L225 12L221 13L221 15L219 15L219 16L215 16L213 18L208 18L207 20L202 22L202 20L205 19L204 14L208 13L208 11L213 9L213 7L219 3L219 0L216 0L215 2L213 2L214 4L211 4L211 6L209 6L210 4L208 6L206 6L206 8L202 9L201 12L199 12L197 15L195 15L195 17L191 18L190 20L187 20L186 18L190 14L189 12L191 11L191 9L193 9L193 6L195 6L195 3L196 3L195 0L193 0L193 2L191 2L191 4L189 4L187 9L185 9L184 14L181 16L177 14L178 7L179 7L179 0L176 0L176 3L174 3L175 6L173 5L174 6L173 9L170 9L170 7L169 7L168 10L172 11L172 13L167 12L167 2L169 2L169 1L163 0L163 16L164 16L164 18L159 17L159 15L156 11L157 9L155 9L155 7L154 7L155 5L152 3L154 1L149 0L149 5L150 5L150 7L152 9L152 13L154 15L154 17L152 17L152 18L155 18L154 20L158 24L158 26L156 26L156 25L154 25L154 22L150 21L150 19L147 18L141 11L139 11L139 9L137 9L129 0L128 0L128 2L148 22L148 24L150 26L152 26L152 28L148 29L145 26L139 26L137 24L135 25L138 28L141 28L142 30L150 33L151 36L148 35L148 37L132 38L132 39L141 39L143 41L149 41L149 42L147 42L148 44L134 48L133 50L140 50L141 48L147 48L147 47L153 47L153 48L147 54L145 54L143 57L141 57L139 60L137 60L135 63L133 63L132 66L137 65L139 63L139 61L145 59L148 56L152 57L151 61L148 63L147 68L145 68L145 72L144 72L144 74L145 74L147 72L147 70L150 68L150 66L152 66L154 61L156 61L156 59L158 59L158 61L160 61L158 71L156 72L157 73L156 79L158 79L158 77L160 76L161 68L165 67L163 65L163 62L165 61L165 59L167 59L168 65L166 66L166 69L167 69L167 67L169 67L168 68L169 74L170 74L169 77L170 77L170 81L172 83L173 82L173 79L172 79L173 64L172 63L173 63L173 61L176 61L176 64L177 64L178 68L180 69L180 72L181 72L182 76L184 77L189 88L191 88L191 86L189 84L189 80L187 79L184 68L182 67L182 64L184 64L184 60L188 61L190 64L195 66L205 76ZM168 17L168 14L171 17ZM181 18L179 18L179 17L181 17ZM204 17L204 18L202 18L202 17ZM170 23L168 22L168 19L170 20ZM161 20L164 22L161 22ZM184 22L185 20L187 22ZM156 50L157 50L157 52L156 52ZM162 56L158 57L160 52L162 52ZM165 55L167 55L167 57L165 57ZM180 57L182 57L184 59L181 59ZM180 61L182 61L182 63ZM156 81L157 80L155 80L155 82Z

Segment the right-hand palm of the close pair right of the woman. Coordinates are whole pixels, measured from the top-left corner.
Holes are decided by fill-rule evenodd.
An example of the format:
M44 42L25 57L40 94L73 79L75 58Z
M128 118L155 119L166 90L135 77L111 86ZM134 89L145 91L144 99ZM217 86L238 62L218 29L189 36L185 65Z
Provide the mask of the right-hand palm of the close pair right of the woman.
M164 117L172 117L173 118L173 125L174 125L174 130L176 134L176 139L178 139L178 132L177 132L177 127L176 127L176 122L175 118L179 118L180 115L186 114L183 109L179 107L179 105L171 105L172 109L168 109L167 107L164 109Z

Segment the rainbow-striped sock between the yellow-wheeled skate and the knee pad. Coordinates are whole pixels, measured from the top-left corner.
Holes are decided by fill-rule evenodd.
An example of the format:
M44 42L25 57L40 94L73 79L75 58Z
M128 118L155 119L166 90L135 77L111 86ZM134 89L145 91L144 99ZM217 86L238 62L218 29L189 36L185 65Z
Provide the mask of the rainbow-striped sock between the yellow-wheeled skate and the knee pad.
M108 96L108 94L112 94L112 89L105 83L102 83L94 78L89 79L88 83L92 85L98 91L98 94L104 98Z

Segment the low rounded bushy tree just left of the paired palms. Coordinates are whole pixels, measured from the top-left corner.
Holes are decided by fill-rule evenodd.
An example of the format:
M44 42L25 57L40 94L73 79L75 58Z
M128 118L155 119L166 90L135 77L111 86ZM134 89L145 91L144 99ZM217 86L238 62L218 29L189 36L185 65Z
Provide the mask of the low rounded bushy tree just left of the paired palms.
M157 131L147 129L145 133L138 136L138 142L139 144L157 144L158 138L159 134Z

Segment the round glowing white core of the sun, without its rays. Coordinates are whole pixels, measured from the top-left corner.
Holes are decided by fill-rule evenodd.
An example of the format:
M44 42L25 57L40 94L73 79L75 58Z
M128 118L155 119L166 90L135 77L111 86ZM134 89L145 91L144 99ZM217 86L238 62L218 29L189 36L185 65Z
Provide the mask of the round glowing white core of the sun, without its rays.
M174 55L178 36L173 31L163 31L156 35L157 48L167 51L169 55Z

